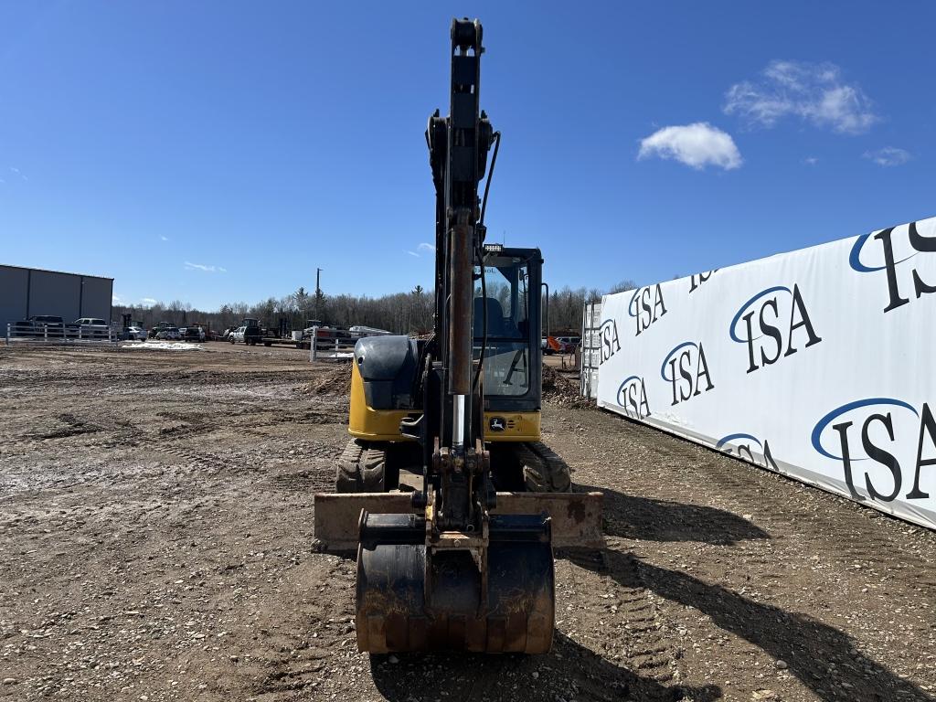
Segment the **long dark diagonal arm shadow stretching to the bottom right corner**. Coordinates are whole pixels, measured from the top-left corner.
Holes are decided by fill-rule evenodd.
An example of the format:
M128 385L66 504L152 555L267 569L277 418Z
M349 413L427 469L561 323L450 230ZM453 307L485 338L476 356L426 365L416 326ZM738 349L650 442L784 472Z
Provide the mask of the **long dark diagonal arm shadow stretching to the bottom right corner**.
M646 563L615 550L603 558L573 558L607 573L625 587L648 588L694 607L712 622L782 660L790 673L823 700L932 700L923 690L855 648L853 639L809 615L758 603L718 585ZM596 563L600 563L596 565Z

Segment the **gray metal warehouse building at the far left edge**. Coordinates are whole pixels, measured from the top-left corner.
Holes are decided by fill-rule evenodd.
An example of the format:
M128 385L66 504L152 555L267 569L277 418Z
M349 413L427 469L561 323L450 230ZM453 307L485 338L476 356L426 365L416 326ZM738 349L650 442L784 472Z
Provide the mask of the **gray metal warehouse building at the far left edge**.
M96 317L110 323L113 278L0 265L0 324L36 314L54 314L66 322Z

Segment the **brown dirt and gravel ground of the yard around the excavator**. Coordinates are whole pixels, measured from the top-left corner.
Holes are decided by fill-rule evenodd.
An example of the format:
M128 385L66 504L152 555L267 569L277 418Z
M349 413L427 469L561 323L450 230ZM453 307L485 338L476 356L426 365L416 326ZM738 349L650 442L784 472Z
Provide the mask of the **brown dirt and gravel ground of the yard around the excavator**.
M548 402L605 492L544 656L358 653L314 552L347 397L289 349L0 347L0 699L925 700L936 534Z

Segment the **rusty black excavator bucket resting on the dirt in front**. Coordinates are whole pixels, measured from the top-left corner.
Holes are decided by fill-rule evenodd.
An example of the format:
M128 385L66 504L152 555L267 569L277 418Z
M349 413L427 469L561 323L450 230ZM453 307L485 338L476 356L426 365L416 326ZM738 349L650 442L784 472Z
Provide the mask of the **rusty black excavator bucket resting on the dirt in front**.
M427 548L416 515L364 513L358 547L358 650L545 653L555 577L549 519L490 518L485 555Z

